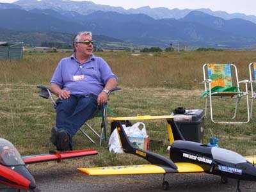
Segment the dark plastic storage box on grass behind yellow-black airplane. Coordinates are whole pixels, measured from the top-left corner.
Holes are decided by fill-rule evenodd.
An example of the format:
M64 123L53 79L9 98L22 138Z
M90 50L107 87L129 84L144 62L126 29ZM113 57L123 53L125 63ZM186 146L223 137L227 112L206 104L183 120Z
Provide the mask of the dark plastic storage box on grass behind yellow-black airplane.
M204 138L204 110L186 110L184 114L174 114L174 121L178 125L185 140L203 143Z

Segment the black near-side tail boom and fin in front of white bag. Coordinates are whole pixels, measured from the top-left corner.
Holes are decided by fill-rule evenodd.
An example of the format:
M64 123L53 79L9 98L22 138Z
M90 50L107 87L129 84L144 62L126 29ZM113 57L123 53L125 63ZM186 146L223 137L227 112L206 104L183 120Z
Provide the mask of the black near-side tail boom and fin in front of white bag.
M167 159L166 157L160 156L158 154L154 154L153 152L149 152L148 150L143 150L140 148L134 147L129 141L127 135L125 134L124 127L120 122L116 124L118 136L120 139L121 146L125 153L134 154L136 156L142 157L152 164L161 164L164 166L168 166L174 170L177 170L177 166L173 163L171 159Z

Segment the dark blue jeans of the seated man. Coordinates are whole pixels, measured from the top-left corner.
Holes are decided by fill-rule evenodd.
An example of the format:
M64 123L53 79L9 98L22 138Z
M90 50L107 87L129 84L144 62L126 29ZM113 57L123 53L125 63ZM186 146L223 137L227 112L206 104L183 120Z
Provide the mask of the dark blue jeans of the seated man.
M72 137L97 112L97 96L70 95L56 100L56 104L56 127L68 133L72 146Z

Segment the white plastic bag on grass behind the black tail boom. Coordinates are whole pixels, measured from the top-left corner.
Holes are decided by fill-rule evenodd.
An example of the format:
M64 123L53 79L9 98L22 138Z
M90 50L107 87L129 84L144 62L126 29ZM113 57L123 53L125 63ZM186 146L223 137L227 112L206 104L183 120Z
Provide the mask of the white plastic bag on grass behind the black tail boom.
M140 129L140 125L143 125L143 128ZM143 137L147 137L147 131L146 131L146 127L145 124L141 123L141 122L137 122L136 124L132 125L131 127L125 127L125 125L122 125L124 127L124 131L127 134L127 136L143 136ZM115 129L110 138L109 138L109 142L108 142L108 146L109 146L109 152L115 152L115 154L122 154L124 151L120 145L120 141L118 138L118 132Z

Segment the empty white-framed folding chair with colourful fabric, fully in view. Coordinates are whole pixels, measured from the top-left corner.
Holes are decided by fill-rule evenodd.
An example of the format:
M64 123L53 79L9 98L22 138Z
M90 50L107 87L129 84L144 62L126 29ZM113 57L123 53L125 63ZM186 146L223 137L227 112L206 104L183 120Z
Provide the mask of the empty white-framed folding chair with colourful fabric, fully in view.
M233 71L233 73L232 73ZM210 114L211 120L214 123L220 124L246 124L250 121L249 112L249 102L248 102L248 80L239 81L237 75L237 68L234 64L215 64L215 63L205 63L203 66L204 72L204 86L205 92L202 94L201 98L205 98L205 116L207 116L207 99L209 98L210 103ZM233 74L236 76L232 79ZM241 91L240 84L244 83L245 92ZM236 84L236 86L233 86ZM221 122L214 121L212 113L212 99L213 98L230 98L236 99L236 107L234 111L234 119L237 114L237 107L241 100L241 97L246 97L246 110L247 110L247 120L245 122ZM224 109L223 106L221 108Z

